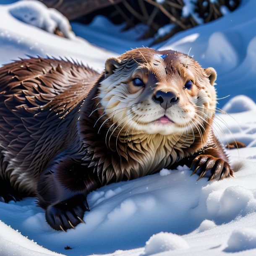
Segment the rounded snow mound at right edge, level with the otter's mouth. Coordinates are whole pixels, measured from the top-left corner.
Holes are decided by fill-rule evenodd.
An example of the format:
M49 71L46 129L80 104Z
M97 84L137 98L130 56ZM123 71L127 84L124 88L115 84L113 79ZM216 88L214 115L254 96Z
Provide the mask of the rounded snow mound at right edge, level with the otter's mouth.
M230 99L230 101L222 107L222 110L227 113L238 113L249 110L256 110L256 104L246 95L238 95Z

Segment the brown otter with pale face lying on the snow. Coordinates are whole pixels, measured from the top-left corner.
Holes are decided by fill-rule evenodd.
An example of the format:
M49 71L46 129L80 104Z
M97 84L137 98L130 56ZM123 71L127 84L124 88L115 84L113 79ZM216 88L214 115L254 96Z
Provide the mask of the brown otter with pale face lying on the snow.
M137 48L105 70L30 57L0 68L0 201L35 196L48 224L84 222L103 185L190 165L233 176L212 130L214 68L173 50Z

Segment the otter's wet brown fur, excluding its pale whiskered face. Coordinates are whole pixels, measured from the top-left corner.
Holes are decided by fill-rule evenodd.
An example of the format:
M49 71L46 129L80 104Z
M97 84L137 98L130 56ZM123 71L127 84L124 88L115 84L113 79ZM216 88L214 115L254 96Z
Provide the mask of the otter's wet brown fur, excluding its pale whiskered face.
M154 59L156 54L169 56L163 62ZM116 65L125 66L129 61L152 71L160 81L154 91L168 91L166 81L187 76L191 68L202 84L215 80L187 55L149 48L107 60L106 73L100 75L78 63L42 57L21 59L0 69L0 183L5 184L0 198L9 201L37 196L39 205L46 209L47 222L65 230L76 226L89 210L86 195L104 184L180 163L190 165L194 159L198 160L193 161L194 169L200 170L207 162L201 155L228 162L212 132L214 114L202 122L199 131L193 131L193 136L126 134L128 130L121 127L114 129L101 108L100 86L105 77L115 73ZM197 89L189 93L196 96ZM204 172L211 179L232 176L231 169L222 173L220 167L211 168L206 168L207 175L204 170L198 174ZM56 211L62 218L56 217Z

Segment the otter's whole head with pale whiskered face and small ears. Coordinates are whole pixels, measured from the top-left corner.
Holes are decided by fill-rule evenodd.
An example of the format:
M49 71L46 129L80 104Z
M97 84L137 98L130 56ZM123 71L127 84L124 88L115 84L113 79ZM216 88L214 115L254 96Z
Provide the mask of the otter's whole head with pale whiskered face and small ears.
M214 115L216 72L192 57L139 48L107 59L105 66L100 103L127 135L187 133Z

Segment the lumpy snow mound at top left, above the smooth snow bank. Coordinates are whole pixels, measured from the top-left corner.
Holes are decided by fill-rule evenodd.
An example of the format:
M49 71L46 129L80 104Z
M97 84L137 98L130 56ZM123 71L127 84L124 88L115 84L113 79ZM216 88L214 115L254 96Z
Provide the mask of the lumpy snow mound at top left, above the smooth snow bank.
M44 29L52 34L60 29L66 38L74 38L68 19L55 9L47 8L39 1L20 1L10 5L9 13L19 21Z

